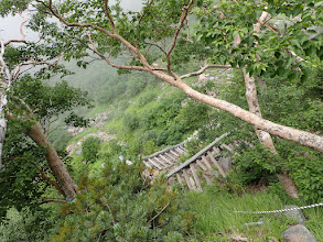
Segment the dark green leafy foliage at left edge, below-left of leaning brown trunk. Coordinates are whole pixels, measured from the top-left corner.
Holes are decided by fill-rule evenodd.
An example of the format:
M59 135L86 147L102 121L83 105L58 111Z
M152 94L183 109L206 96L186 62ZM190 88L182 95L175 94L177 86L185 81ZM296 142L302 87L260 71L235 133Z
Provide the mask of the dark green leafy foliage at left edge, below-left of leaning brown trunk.
M0 169L0 186L3 188L0 193L0 218L13 206L20 211L23 207L36 205L49 186L39 177L34 165L46 168L44 151L23 134L24 129L19 121L8 122L2 153L4 168Z

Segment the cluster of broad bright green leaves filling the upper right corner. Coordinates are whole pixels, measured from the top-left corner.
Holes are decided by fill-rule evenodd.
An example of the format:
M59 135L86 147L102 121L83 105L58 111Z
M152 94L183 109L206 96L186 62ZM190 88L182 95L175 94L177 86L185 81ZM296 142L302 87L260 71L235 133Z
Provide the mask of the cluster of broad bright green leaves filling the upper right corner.
M195 9L197 19L197 38L213 50L208 58L218 64L247 66L251 76L274 77L288 79L306 79L309 67L316 66L323 57L322 36L311 35L310 26L322 25L322 4L313 1L295 3L290 1L281 7L278 1L206 1L205 7ZM257 23L262 11L270 13L276 25L272 31L261 31L256 34L254 24ZM293 18L301 15L300 21ZM239 21L236 21L239 20ZM315 31L313 31L315 32ZM241 42L235 45L235 37L239 35ZM225 36L225 37L223 37ZM257 41L257 45L255 42ZM294 52L306 62L295 62L287 51ZM261 59L261 62L259 62ZM300 68L301 73L294 69Z

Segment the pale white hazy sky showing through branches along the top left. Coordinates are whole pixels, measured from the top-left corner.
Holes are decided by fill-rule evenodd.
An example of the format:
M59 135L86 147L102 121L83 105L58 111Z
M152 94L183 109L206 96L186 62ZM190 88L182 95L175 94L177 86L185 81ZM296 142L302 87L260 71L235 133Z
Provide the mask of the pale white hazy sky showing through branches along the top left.
M115 1L111 1L111 4ZM121 7L125 10L139 11L142 6L142 0L121 0ZM20 24L22 18L20 15L0 18L0 36L4 40L21 38ZM35 33L25 31L26 40L35 40L37 36Z

